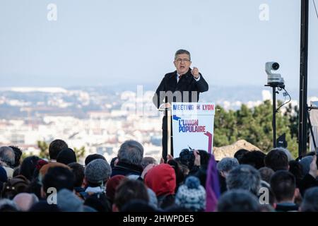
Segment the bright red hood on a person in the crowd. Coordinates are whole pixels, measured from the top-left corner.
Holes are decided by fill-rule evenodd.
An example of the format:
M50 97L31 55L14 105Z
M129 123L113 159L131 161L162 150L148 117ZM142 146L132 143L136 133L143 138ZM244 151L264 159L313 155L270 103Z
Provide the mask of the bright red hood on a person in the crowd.
M175 194L175 169L165 163L157 165L147 172L144 182L156 196Z

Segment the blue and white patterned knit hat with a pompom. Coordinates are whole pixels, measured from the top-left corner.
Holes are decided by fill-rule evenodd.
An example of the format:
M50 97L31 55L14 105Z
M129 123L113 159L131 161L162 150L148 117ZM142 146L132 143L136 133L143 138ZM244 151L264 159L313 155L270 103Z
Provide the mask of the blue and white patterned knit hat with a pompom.
M206 190L201 186L198 178L187 177L185 183L179 186L175 196L175 203L194 211L206 208Z

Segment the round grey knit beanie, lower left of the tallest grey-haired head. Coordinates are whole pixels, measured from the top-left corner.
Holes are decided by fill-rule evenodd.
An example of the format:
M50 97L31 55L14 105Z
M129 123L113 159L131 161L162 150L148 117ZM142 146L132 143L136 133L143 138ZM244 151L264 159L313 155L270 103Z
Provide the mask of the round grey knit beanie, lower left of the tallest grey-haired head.
M90 183L99 184L112 174L112 168L107 161L102 159L93 160L85 167L85 177Z

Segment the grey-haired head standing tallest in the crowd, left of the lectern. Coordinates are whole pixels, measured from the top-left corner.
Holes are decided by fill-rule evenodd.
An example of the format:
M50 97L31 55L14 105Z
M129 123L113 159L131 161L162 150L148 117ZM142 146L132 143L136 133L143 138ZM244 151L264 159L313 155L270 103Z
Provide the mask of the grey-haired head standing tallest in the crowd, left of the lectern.
M143 146L137 141L125 141L118 150L118 160L134 165L141 165Z

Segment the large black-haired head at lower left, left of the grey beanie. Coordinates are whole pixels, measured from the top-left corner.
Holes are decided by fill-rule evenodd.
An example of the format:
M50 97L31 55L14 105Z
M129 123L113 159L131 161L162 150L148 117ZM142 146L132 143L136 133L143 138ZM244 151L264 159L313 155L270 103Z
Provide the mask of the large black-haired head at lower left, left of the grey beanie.
M46 196L52 193L49 188L54 188L56 191L60 191L61 189L73 191L73 184L74 175L66 167L51 167L42 179L42 189Z

